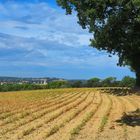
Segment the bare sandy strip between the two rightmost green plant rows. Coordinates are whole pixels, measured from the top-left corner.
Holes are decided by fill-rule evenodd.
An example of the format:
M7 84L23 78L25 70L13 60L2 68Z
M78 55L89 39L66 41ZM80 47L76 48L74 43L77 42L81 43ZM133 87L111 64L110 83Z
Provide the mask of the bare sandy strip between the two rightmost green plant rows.
M101 94L101 97L101 105L98 107L98 110L90 121L80 131L79 135L77 135L76 140L96 140L103 117L107 115L106 112L108 112L110 105L110 99L106 94Z

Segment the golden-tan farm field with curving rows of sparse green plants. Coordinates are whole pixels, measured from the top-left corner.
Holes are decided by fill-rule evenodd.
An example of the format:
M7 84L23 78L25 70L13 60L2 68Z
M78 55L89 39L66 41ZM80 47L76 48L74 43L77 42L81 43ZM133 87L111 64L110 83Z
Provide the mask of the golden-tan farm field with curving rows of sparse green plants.
M140 108L140 96L113 92L79 88L0 93L0 139L139 140L139 120L132 126L121 118Z

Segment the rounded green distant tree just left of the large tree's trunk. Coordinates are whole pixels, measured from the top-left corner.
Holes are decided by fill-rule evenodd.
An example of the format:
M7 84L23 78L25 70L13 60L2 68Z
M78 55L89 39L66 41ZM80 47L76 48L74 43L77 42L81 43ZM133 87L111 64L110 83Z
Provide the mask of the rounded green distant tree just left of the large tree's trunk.
M125 76L122 79L120 85L121 86L124 86L124 87L134 87L135 83L136 83L135 78L132 78L130 76Z

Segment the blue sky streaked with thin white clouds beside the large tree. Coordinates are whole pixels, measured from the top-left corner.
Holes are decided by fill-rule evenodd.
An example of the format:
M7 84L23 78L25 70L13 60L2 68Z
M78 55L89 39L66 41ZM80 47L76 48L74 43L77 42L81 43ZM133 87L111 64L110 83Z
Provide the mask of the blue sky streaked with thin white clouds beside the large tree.
M134 76L89 46L92 34L55 0L0 0L0 76L65 79Z

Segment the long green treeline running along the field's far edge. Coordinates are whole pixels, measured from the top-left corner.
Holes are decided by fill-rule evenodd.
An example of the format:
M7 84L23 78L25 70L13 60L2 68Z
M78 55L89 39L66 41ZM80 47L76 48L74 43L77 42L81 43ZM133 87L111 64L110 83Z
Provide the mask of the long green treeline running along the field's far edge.
M106 79L92 78L89 80L75 81L52 81L47 85L37 84L3 84L0 85L0 91L20 91L20 90L36 90L36 89L54 89L54 88L80 88L80 87L134 87L135 78L125 76L118 81L115 77Z

